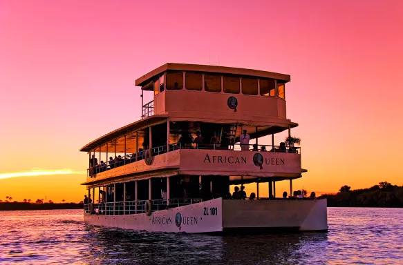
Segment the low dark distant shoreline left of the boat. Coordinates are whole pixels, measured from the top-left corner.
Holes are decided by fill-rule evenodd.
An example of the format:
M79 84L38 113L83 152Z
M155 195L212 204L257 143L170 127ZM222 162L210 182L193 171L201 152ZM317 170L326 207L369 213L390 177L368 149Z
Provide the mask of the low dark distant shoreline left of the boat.
M83 209L84 204L74 202L64 204L30 204L28 202L1 202L1 210L62 210L62 209Z

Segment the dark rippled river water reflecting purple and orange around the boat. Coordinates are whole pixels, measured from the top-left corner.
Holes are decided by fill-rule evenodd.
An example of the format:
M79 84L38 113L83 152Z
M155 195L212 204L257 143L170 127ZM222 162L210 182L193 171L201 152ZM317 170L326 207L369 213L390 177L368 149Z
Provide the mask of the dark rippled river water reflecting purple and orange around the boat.
M328 233L187 235L86 226L82 210L0 212L1 264L403 264L403 209L328 208Z

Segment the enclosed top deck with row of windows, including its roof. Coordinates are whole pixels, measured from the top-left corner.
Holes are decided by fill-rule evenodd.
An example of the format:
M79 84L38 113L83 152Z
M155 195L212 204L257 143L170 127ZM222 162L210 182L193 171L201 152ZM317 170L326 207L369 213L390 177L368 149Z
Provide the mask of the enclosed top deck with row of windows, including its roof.
M166 63L135 81L153 101L142 104L142 119L167 115L171 121L281 126L287 119L289 75L261 70Z

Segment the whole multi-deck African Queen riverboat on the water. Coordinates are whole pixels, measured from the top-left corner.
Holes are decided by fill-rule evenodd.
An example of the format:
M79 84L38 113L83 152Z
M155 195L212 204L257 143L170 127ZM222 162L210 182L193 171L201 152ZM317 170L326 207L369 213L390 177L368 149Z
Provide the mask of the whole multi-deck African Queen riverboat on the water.
M301 148L274 145L290 75L167 63L135 80L141 119L91 141L86 224L158 232L327 230L326 199L293 197ZM153 100L144 104L144 95ZM128 108L128 110L131 107ZM269 137L272 144L259 144ZM281 139L283 140L283 139ZM279 141L280 142L280 141ZM290 182L277 197L276 183ZM245 198L234 185L256 184ZM268 197L259 197L259 189Z

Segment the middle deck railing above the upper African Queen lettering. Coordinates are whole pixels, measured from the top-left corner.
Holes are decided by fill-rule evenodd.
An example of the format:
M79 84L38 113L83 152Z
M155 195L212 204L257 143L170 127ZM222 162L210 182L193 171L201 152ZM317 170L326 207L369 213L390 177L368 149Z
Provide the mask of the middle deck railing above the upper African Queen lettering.
M237 149L235 149L235 151L240 151L239 149L241 149L241 144L235 144L234 146L236 146L236 148L237 148ZM301 154L300 147L285 146L285 147L281 148L281 146L249 144L249 146L247 146L247 148L250 151L255 151L255 152ZM268 150L268 148L270 148L270 150ZM221 144L181 144L181 143L169 144L169 151L180 150L180 149L229 150L229 146L222 146ZM138 153L126 154L126 156L123 156L120 159L109 160L109 161L104 162L103 164L94 166L93 168L88 168L87 177L92 177L93 175L95 175L97 173L102 173L109 169L117 168L119 166L124 166L126 164L130 164L135 161L140 161L140 160L144 159L146 151L147 150L141 150ZM167 153L167 146L165 145L165 146L158 146L158 147L151 148L151 153L152 153L152 155L161 155L161 154Z

